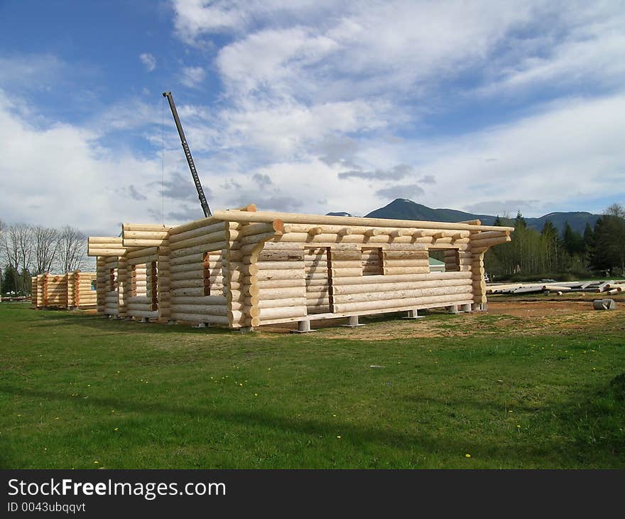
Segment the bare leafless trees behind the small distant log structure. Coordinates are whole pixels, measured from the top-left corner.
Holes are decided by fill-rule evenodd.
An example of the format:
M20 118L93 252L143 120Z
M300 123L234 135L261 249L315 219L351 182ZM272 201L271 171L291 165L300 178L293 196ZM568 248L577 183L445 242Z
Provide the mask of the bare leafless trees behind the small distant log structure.
M31 276L85 269L87 237L70 225L49 228L0 220L0 265L2 293L28 294Z

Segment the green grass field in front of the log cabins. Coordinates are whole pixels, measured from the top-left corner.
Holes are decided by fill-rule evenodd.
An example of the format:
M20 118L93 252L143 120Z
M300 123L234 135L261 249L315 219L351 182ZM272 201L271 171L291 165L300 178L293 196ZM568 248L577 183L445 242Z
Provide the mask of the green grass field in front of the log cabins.
M0 304L0 466L623 469L621 309L289 335Z

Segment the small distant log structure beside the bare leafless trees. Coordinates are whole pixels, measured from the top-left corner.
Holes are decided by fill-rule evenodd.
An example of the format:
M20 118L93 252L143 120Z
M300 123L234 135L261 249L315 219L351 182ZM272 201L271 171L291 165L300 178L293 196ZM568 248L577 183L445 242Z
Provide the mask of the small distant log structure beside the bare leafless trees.
M40 308L85 308L96 306L97 291L92 289L95 272L39 274L31 277L31 303Z

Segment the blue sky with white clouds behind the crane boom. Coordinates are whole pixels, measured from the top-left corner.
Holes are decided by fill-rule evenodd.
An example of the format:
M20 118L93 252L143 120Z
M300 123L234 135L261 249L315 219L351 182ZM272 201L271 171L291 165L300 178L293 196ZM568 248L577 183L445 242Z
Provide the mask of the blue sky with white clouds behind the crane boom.
M0 1L0 218L625 202L625 2Z

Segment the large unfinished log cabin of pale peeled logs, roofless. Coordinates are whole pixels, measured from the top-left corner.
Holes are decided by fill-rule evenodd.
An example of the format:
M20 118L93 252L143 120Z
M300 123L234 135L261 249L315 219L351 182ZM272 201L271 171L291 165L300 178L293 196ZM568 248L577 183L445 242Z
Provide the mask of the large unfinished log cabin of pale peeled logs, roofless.
M484 310L484 252L513 228L219 210L183 225L89 237L97 310L119 318L256 326L420 309ZM445 272L428 257L443 250Z

